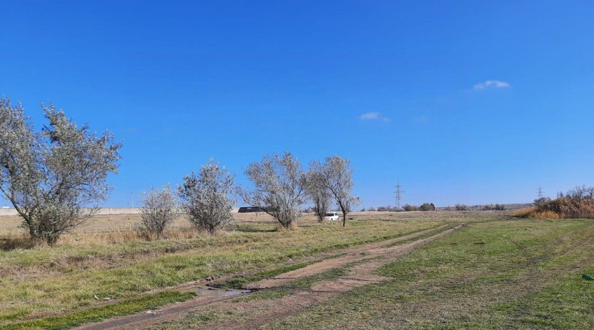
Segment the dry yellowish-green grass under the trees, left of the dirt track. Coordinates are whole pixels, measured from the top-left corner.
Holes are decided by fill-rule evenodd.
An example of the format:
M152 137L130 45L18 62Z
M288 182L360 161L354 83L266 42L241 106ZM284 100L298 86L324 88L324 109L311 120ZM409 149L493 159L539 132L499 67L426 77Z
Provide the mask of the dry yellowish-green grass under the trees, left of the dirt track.
M322 253L462 219L434 215L419 221L415 214L398 221L377 221L393 215L374 213L354 214L355 220L346 228L337 222L317 224L312 216L305 216L296 231L277 231L266 215L237 215L236 225L220 235L175 230L169 235L172 238L161 241L114 239L128 238L135 216L125 216L127 221L97 216L56 247L0 252L0 326L75 312L106 299L138 298L207 276L315 260ZM3 231L14 232L16 221L5 218L10 217L0 219ZM176 225L184 228L185 224L179 220Z

